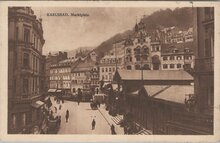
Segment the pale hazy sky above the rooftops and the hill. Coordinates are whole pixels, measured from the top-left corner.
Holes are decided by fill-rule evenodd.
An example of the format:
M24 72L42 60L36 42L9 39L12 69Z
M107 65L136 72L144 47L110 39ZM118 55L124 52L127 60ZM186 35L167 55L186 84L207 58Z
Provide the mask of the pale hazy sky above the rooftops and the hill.
M43 19L43 53L96 47L113 35L132 29L136 19L160 8L40 8L32 7ZM47 13L84 13L88 17L47 16Z

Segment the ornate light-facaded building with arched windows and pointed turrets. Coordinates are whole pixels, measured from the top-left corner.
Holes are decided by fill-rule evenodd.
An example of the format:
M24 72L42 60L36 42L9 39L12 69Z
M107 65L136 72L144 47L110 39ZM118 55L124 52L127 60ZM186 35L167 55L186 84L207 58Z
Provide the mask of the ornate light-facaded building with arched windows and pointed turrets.
M149 70L152 68L151 63L151 39L145 30L145 24L135 25L133 37L125 41L125 69L127 70Z

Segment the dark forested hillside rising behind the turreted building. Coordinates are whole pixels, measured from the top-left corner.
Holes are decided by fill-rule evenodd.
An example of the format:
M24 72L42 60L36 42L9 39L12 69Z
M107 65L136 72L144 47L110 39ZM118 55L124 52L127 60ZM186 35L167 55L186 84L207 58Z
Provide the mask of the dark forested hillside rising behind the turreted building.
M176 8L174 10L165 9L152 13L149 16L143 18L143 22L146 24L146 30L154 31L158 28L165 28L176 26L179 29L186 29L193 25L193 10L192 8ZM135 25L134 25L135 26ZM124 33L116 34L110 39L102 42L95 51L99 55L99 58L103 57L104 53L112 48L115 41L120 41L127 38L132 34L134 29L125 31Z

